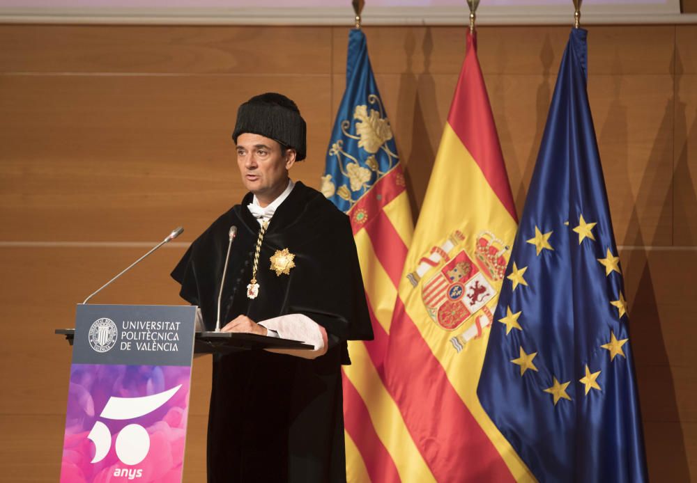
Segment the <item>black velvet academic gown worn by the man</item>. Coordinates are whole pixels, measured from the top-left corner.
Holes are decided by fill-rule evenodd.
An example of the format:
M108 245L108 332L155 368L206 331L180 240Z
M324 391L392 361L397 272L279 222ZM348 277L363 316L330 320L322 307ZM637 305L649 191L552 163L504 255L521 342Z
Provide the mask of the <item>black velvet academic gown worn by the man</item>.
M268 351L214 356L208 420L209 482L344 482L344 418L340 366L346 340L372 339L358 256L348 217L321 193L297 182L277 208L263 239L247 298L259 222L247 209L252 193L220 216L190 246L172 277L181 296L215 328L228 232L236 225L223 288L221 323L240 314L254 322L300 313L335 335L327 354L307 360ZM270 269L288 248L295 267Z

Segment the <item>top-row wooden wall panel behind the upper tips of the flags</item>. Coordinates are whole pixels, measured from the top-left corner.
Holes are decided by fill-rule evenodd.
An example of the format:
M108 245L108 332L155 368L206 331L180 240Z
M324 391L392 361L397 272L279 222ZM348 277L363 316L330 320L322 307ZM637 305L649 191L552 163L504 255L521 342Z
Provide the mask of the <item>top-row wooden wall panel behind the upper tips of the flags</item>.
M688 26L686 26L688 27ZM556 74L571 27L481 26L477 54L485 74ZM365 27L380 74L459 74L463 27ZM686 32L689 30L686 30ZM647 39L651 39L647 42ZM332 65L346 72L348 29L334 29ZM637 45L641 45L637 49ZM588 27L591 74L672 74L675 26Z

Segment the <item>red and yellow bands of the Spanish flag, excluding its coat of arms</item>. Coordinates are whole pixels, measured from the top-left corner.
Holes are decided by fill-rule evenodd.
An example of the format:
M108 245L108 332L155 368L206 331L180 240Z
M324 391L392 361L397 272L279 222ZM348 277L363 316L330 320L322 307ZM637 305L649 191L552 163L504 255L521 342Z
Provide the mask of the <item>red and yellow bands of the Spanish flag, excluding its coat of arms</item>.
M474 253L476 237L482 232L493 232L509 245L516 232L503 155L475 41L469 34L467 55L404 273L414 271L431 248L456 230L465 237L459 248L468 253ZM458 332L445 330L429 317L422 285L438 269L431 267L417 287L406 277L399 280L388 350L383 354L383 380L436 480L533 480L477 399L489 330L458 353L450 343ZM498 291L501 281L492 285ZM467 323L475 322L470 319ZM408 481L418 480L410 477Z

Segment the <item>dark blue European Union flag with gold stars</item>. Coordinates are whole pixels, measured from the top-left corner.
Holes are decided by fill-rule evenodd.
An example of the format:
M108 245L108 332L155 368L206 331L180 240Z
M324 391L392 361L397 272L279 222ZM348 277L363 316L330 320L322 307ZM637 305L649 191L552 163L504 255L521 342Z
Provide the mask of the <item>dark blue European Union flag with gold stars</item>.
M627 301L588 104L586 31L562 58L478 393L540 481L641 482Z

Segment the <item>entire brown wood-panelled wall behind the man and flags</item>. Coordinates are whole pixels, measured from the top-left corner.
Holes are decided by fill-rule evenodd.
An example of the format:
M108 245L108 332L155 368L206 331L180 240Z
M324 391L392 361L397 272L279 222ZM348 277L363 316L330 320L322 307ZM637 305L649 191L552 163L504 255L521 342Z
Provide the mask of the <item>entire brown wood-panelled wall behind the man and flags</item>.
M687 2L689 3L689 2ZM422 203L464 57L462 27L365 29ZM650 475L697 479L697 26L591 26L589 93L627 285ZM75 303L178 303L169 270L243 187L236 107L278 90L319 184L344 88L340 27L0 26L0 480L59 474ZM482 27L480 61L521 212L568 27ZM185 481L205 474L210 360L194 363Z

